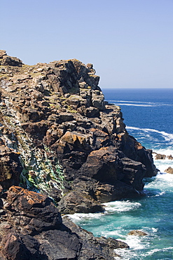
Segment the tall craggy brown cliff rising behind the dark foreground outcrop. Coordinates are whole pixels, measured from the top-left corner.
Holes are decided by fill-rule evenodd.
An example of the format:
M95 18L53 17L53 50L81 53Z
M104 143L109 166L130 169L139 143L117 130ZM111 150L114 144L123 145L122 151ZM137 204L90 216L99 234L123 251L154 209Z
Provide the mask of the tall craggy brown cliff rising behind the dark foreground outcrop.
M0 138L11 142L0 150L4 161L9 148L20 154L23 187L62 200L62 209L76 194L76 183L85 205L76 200L74 210L84 212L98 210L89 200L100 207L100 202L141 194L142 179L157 174L151 150L128 135L120 107L104 101L92 64L71 59L31 67L5 51L0 55L8 64L0 67ZM19 183L18 160L10 163L16 178L10 169L1 174L4 188ZM84 184L89 179L91 190Z

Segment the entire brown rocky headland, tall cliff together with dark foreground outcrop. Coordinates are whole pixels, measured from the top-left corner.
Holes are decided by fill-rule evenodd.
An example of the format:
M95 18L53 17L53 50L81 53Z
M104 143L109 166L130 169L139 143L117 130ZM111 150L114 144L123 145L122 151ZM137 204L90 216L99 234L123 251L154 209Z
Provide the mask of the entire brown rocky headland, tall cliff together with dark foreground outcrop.
M1 245L6 245L2 246L5 251L0 250L1 259L113 259L112 251L117 242L94 238L67 218L63 224L60 213L102 212L103 202L139 196L144 188L143 178L155 176L157 169L152 151L127 133L120 107L104 100L98 84L99 77L92 64L84 65L72 59L30 66L0 51L1 223L9 225L14 234L13 240L11 235L1 238ZM38 193L43 197L38 198ZM41 219L38 225L44 227L32 231L37 223L36 215L32 220L27 209L29 194L32 194L30 209L36 207L36 214L46 210L47 201L57 204L57 207L51 206L51 210L53 215L57 214L59 224L56 218L50 217L48 223L53 225L50 228ZM6 202L3 196L7 196L7 200L9 196L14 197ZM5 207L4 203L12 204ZM18 216L25 216L27 220ZM25 233L26 226L29 233ZM60 252L66 253L60 256L56 251L53 233L60 236L59 231L68 236L73 254L61 248ZM74 238L73 232L81 236ZM23 235L32 238L27 240ZM55 252L46 242L47 238L55 242ZM77 238L78 242L73 244ZM90 245L85 244L86 240ZM13 257L9 251L12 245L20 253L26 247L32 256L18 258L20 253L16 253ZM90 256L85 255L88 250Z

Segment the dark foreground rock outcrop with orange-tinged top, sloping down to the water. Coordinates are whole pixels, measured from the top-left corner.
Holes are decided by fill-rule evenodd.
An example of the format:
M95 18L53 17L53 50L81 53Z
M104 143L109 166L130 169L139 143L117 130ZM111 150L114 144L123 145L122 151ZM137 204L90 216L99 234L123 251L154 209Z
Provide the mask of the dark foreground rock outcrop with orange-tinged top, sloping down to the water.
M1 199L0 258L108 259L113 249L128 248L112 238L95 238L62 217L45 195L12 186Z

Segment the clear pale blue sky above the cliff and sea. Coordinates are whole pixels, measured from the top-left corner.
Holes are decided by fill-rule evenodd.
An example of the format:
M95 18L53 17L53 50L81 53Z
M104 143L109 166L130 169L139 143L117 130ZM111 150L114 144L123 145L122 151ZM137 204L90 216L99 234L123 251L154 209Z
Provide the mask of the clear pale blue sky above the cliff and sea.
M173 0L6 0L0 49L25 64L77 58L102 88L173 88Z

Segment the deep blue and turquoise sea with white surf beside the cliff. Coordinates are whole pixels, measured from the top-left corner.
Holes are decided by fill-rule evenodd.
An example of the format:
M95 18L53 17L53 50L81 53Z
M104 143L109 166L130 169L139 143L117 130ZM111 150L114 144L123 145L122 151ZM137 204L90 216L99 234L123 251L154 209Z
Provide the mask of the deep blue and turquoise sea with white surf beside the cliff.
M128 133L153 152L173 156L173 89L103 89L105 99L120 105ZM154 153L153 153L154 157ZM145 197L105 203L106 212L71 218L94 235L127 242L117 249L123 259L173 259L173 160L154 160L160 170L145 181ZM143 230L144 237L127 235ZM119 259L119 258L118 258Z

